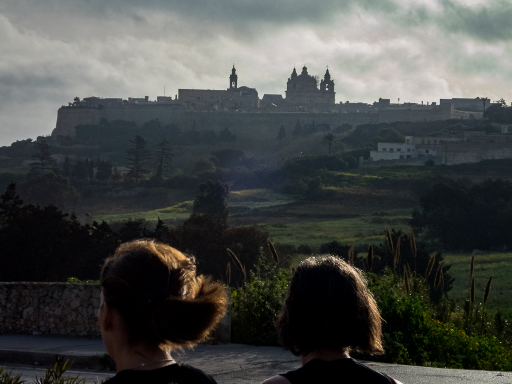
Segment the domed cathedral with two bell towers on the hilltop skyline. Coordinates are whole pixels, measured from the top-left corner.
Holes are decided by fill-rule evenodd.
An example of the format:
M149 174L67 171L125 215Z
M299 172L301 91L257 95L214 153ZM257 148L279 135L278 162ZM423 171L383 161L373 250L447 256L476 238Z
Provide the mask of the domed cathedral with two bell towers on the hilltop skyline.
M315 77L308 75L306 66L302 73L297 75L295 68L286 84L287 105L319 105L334 104L334 81L331 80L329 69L325 72L324 79L320 82L320 89Z

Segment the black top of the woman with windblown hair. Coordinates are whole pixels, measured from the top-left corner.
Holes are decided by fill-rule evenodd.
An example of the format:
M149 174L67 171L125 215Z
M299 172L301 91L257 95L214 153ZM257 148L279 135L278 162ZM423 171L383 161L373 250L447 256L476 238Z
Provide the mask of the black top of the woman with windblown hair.
M186 364L171 364L151 371L125 369L103 384L217 384L213 377Z

